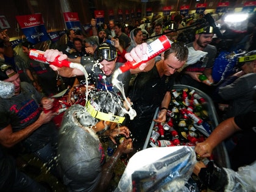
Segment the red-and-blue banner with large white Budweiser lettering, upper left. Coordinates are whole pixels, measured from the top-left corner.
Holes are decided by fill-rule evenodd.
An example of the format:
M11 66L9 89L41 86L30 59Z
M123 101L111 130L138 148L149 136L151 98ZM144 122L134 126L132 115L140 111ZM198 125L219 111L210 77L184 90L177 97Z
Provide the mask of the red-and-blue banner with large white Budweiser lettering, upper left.
M49 40L41 13L17 15L16 20L30 43L37 44Z

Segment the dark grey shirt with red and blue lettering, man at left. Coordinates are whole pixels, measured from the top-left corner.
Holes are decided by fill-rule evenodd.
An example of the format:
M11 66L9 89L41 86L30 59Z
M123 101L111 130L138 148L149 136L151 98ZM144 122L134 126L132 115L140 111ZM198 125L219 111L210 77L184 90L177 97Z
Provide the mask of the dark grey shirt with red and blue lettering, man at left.
M41 113L38 104L42 97L33 85L21 82L20 94L9 99L0 98L0 112L5 114L5 118L0 118L0 129L4 129L10 124L13 132L17 132L37 121ZM49 143L54 129L53 123L43 124L22 143L28 152L37 151Z

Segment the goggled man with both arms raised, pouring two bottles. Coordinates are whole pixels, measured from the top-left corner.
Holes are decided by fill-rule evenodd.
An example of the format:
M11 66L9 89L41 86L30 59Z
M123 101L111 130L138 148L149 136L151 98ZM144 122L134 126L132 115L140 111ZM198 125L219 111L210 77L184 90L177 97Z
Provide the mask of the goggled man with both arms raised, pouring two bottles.
M137 47L133 48L132 51L126 54L126 59L132 62L140 62L143 60L143 55L146 54L147 44L139 44ZM60 55L59 60L67 59L66 55L63 55L57 50L46 50L44 57L50 62ZM116 69L123 65L123 63L116 62L116 48L108 43L102 43L94 51L94 61L88 63L82 63L85 70L89 74L89 79L91 84L95 85L97 90L110 90L118 93L119 90L112 85L112 76ZM95 63L96 62L96 63ZM84 73L79 69L73 68L58 68L56 66L50 65L55 71L59 71L60 76L63 77L73 77L73 76L84 76ZM148 71L154 66L154 60L150 60L146 65L141 65L140 68L130 69L124 73L119 74L118 80L124 85L124 91L126 92L129 87L129 81L131 74L139 73L141 71Z

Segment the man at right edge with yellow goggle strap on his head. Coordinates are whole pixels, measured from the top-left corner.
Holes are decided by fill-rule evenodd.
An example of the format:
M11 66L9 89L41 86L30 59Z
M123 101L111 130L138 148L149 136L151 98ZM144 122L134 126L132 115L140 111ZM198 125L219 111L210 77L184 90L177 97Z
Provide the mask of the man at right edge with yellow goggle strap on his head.
M219 86L219 96L229 104L224 118L256 110L253 99L256 85L256 50L239 57L237 66L241 71L224 80Z

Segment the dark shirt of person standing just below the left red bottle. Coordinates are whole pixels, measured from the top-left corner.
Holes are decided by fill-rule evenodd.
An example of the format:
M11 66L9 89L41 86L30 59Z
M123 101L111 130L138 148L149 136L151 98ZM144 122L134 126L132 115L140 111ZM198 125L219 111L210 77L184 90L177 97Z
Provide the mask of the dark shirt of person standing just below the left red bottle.
M31 73L37 75L38 83L43 89L43 93L47 96L58 93L57 75L49 65L30 59L28 61L28 65Z

